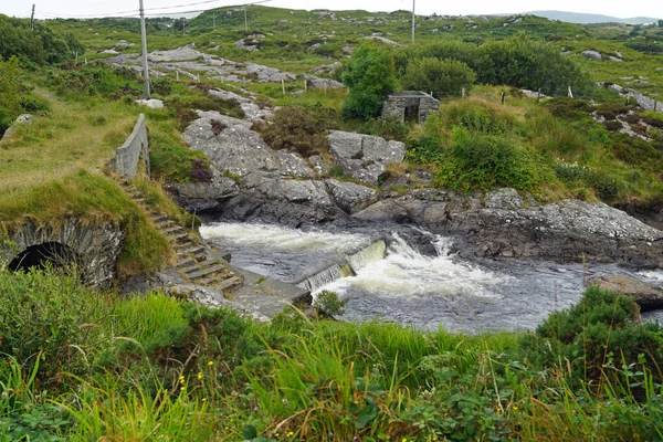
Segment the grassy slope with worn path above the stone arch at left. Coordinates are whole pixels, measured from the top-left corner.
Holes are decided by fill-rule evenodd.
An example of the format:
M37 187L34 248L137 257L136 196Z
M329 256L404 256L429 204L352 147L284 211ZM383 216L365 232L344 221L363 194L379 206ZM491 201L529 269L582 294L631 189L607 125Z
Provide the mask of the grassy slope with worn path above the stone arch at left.
M56 228L66 217L83 224L110 221L127 233L117 263L120 277L150 274L172 263L167 239L122 191L106 165L138 115L146 114L156 181L138 178L135 185L149 206L183 227L194 225L159 181L208 177L207 157L189 150L180 130L196 117L193 103L208 108L215 103L203 91L181 84L164 91L168 109L141 108L134 104L140 96L139 78L92 63L20 75L21 102L33 103L39 112L0 141L0 235L4 239L25 223Z

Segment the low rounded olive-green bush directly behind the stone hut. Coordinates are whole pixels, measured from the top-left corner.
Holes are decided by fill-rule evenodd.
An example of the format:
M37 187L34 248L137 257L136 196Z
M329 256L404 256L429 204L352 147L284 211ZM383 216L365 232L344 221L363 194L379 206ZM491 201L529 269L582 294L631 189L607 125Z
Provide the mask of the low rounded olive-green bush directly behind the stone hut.
M452 59L419 59L408 65L401 83L403 88L432 92L436 96L461 96L469 92L476 74L465 63Z

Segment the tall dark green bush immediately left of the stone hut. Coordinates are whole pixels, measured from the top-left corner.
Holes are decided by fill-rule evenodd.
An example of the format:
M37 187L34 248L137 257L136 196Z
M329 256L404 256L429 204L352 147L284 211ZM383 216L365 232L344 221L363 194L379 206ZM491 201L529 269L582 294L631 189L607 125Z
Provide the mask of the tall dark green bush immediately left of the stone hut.
M341 107L344 115L364 119L375 117L385 96L397 87L393 57L385 49L361 45L345 65L343 82L348 87Z

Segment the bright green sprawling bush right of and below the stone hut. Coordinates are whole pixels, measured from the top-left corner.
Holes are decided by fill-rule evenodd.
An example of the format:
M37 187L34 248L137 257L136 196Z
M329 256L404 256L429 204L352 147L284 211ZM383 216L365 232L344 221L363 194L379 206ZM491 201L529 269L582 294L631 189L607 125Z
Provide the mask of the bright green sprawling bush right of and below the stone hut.
M541 181L536 152L517 147L507 137L456 127L452 146L436 173L436 183L454 190L513 187L530 190Z

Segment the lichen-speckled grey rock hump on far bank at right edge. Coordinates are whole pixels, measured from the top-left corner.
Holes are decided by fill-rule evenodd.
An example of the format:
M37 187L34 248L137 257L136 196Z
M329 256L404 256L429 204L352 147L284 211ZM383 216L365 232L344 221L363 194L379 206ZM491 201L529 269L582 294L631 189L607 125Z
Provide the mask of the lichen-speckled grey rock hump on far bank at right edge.
M451 213L448 229L463 234L471 244L465 252L474 255L663 265L663 232L621 210L578 200L514 204Z

